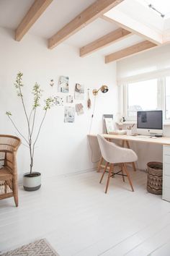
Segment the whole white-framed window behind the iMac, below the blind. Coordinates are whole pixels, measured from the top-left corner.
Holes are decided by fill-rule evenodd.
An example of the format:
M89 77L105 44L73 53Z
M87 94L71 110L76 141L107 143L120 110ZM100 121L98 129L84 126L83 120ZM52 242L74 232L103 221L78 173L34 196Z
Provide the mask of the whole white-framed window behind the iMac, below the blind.
M160 79L129 82L122 86L122 116L136 120L137 111L163 110L170 120L170 76Z

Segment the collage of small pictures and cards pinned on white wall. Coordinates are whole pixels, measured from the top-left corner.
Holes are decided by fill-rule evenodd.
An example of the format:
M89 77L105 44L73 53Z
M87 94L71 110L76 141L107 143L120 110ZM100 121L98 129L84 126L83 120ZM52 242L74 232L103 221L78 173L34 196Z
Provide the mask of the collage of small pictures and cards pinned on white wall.
M50 80L50 86L55 85L54 80ZM84 105L80 101L84 101L84 85L76 83L73 95L69 94L69 77L61 76L58 80L58 93L67 93L66 97L64 95L55 95L54 104L55 106L64 106L64 102L73 104L75 101L77 103L75 106L64 106L64 122L73 123L75 121L75 114L84 114Z

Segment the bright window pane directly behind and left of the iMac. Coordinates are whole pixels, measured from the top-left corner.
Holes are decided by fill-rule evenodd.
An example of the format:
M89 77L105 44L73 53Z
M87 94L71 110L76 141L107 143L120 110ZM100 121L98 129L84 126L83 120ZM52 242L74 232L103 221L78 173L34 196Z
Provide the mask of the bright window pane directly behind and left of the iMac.
M147 80L128 84L128 116L136 116L137 111L157 109L157 80Z

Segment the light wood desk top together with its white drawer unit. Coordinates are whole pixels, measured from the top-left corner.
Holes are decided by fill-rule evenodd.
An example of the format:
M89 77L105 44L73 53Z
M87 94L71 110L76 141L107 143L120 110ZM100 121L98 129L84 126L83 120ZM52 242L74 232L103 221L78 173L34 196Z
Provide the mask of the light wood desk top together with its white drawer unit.
M128 142L140 142L159 144L163 146L163 194L162 198L170 202L170 137L137 137L128 135L106 135L102 134L107 140L121 140ZM97 137L97 135L89 135L89 137Z

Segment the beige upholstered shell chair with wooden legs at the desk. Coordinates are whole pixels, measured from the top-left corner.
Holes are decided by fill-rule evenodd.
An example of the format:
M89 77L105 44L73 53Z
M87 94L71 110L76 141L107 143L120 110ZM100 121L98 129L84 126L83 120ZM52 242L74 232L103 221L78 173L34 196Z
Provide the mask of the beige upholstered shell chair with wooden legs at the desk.
M121 148L117 146L113 142L109 142L104 139L101 135L97 135L97 139L99 142L99 148L102 153L102 158L106 161L106 165L104 168L104 172L102 174L102 178L100 179L100 183L102 182L102 179L104 177L105 172L107 171L107 166L109 166L109 176L107 179L107 186L105 189L105 193L107 193L107 189L109 187L109 179L111 176L115 176L115 174L122 175L123 182L125 182L124 176L128 177L128 181L130 183L130 187L133 189L133 184L130 180L130 175L128 174L128 169L125 166L125 163L133 163L138 160L138 156L136 153L129 149L129 148ZM114 172L114 164L115 163L121 163L122 169L121 171ZM125 174L124 174L125 171ZM121 174L120 174L121 172Z

